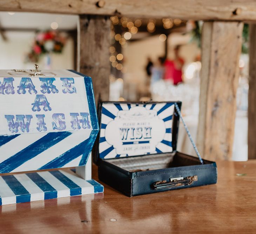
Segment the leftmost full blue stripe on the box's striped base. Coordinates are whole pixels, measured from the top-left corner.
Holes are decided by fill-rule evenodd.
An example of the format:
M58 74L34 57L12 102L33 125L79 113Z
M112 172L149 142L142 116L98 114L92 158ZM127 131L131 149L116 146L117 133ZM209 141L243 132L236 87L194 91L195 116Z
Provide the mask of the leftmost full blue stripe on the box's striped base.
M13 193L16 195L16 203L30 201L30 193L13 175L4 175L2 176L2 178L5 180L9 188L11 188Z

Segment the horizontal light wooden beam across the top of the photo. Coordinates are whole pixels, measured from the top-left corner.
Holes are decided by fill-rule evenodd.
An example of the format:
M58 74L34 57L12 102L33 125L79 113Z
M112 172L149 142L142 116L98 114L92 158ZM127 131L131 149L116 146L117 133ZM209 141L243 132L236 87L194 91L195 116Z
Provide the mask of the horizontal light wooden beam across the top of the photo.
M1 0L0 11L256 21L251 0ZM103 4L102 4L103 2Z

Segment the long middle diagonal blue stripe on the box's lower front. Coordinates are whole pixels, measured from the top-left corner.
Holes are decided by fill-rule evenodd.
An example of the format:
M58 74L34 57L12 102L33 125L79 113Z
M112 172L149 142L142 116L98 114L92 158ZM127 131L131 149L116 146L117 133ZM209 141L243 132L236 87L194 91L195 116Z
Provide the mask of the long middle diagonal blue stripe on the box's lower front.
M26 161L34 158L41 152L47 150L61 140L70 136L71 132L50 132L36 142L32 143L25 149L14 154L12 157L0 163L0 173L8 173L19 167ZM47 168L45 168L47 169Z

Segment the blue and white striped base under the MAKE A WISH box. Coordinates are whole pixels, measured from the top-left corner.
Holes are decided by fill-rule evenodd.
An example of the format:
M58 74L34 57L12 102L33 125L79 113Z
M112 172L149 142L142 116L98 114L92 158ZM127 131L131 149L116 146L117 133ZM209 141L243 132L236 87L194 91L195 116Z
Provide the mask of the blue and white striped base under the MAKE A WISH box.
M103 192L95 180L84 180L72 170L0 176L0 205Z

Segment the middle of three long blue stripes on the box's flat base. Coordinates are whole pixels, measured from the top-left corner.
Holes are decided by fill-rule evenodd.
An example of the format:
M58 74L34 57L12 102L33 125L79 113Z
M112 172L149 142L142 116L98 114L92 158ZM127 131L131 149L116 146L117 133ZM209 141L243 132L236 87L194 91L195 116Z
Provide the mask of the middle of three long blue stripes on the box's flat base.
M26 175L43 191L45 192L45 200L57 198L56 189L43 179L38 173L26 173Z

